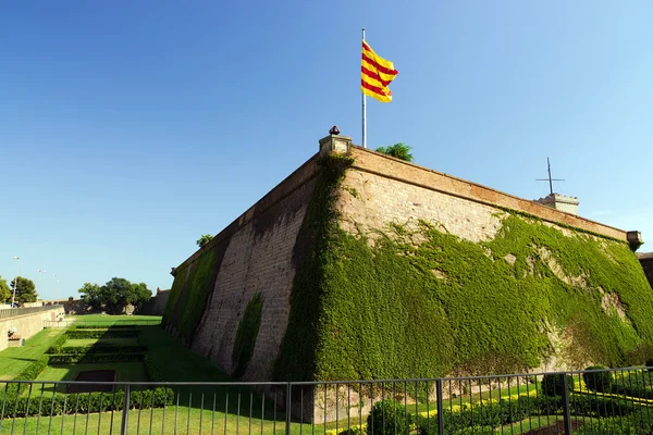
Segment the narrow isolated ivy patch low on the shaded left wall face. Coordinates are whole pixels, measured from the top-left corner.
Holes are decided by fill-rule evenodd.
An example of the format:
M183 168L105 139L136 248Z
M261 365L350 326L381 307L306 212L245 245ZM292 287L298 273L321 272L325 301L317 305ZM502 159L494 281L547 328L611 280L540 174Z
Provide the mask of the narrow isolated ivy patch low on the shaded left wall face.
M243 319L238 323L232 362L234 364L234 376L241 377L247 370L247 364L254 353L256 337L261 325L261 313L263 311L263 297L260 293L252 296L245 308Z

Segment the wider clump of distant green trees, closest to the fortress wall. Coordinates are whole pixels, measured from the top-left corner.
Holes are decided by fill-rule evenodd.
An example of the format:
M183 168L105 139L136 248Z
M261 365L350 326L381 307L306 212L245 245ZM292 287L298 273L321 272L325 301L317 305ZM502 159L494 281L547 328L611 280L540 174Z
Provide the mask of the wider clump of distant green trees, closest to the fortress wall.
M128 304L138 309L152 296L145 283L132 284L119 277L111 278L103 286L86 283L78 291L89 307L111 314L122 313Z

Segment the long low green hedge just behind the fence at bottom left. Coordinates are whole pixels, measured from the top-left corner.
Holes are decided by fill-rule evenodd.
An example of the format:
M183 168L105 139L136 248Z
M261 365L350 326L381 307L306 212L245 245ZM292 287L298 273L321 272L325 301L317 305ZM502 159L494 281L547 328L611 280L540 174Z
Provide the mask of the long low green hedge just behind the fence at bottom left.
M42 403L35 397L14 394L8 396L5 400L4 418L119 411L123 409L123 389L116 389L114 393L56 393L44 399ZM130 409L163 408L172 405L174 405L172 388L157 387L130 393Z

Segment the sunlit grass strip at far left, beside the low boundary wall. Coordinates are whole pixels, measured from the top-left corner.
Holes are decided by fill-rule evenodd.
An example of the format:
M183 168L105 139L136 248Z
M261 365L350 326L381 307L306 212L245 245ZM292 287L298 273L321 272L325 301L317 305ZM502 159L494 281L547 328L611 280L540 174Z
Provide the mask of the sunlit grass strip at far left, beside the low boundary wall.
M39 359L52 341L65 330L48 328L27 338L25 346L12 347L0 352L0 380L13 380L32 362Z

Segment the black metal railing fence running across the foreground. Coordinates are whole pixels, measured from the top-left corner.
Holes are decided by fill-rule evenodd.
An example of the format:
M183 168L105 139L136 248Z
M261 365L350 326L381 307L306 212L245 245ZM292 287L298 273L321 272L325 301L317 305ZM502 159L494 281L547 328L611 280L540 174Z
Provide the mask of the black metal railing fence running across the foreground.
M1 434L652 434L653 369L303 383L10 381ZM2 384L0 384L2 385Z

